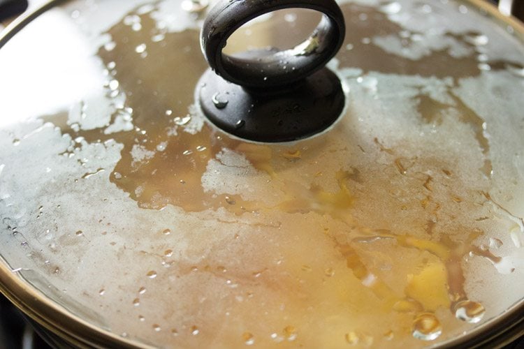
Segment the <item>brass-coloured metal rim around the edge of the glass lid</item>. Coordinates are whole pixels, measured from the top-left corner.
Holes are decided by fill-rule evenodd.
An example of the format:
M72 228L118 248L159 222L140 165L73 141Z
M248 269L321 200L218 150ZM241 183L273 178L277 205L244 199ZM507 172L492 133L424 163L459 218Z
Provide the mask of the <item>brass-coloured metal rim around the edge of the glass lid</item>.
M41 6L28 10L17 17L0 34L0 49L18 31L39 15L55 6L69 0L48 0ZM463 0L472 6L485 11L499 24L507 24L514 29L514 36L524 41L524 23L516 17L503 15L497 8L486 0ZM108 343L119 348L154 348L145 343L138 343L126 339L107 329L97 327L71 313L63 306L53 302L36 289L29 281L9 267L8 262L0 255L0 292L6 296L18 309L29 316L38 325L58 336L66 343L78 348L103 348ZM455 339L449 339L431 348L446 347L458 348L467 343L469 348L500 348L524 335L524 295L509 311L505 311L497 318L483 323L471 332Z

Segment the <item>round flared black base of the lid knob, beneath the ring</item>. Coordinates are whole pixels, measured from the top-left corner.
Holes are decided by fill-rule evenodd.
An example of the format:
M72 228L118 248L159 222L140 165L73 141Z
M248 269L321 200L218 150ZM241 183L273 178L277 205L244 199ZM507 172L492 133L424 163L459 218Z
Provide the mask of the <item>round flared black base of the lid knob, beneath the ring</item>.
M257 142L289 142L320 133L340 117L345 103L340 80L327 68L283 94L247 91L211 69L198 86L198 101L212 124Z

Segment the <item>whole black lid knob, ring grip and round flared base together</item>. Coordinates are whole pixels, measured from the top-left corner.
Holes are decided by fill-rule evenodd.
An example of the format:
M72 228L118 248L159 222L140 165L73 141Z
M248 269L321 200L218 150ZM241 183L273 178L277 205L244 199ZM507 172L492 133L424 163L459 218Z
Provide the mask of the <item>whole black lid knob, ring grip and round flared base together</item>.
M222 52L242 24L284 8L323 13L304 43L282 51ZM201 33L211 67L197 91L204 114L228 133L261 142L298 140L325 130L344 107L340 80L324 68L344 35L344 16L335 0L219 1Z

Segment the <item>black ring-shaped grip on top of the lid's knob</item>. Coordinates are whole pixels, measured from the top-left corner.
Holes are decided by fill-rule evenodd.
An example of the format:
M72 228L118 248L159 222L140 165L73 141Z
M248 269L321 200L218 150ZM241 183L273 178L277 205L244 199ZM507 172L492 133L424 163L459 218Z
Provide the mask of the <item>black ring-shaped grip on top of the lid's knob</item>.
M309 8L323 13L307 40L284 51L228 56L222 50L242 24L284 8ZM206 18L202 51L211 68L225 80L252 89L286 87L321 69L342 46L346 29L335 0L221 0Z

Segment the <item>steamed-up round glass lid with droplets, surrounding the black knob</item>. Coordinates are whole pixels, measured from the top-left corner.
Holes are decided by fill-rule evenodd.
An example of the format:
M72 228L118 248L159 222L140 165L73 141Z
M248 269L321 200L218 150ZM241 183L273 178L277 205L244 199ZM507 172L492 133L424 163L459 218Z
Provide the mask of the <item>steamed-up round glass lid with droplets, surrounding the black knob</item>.
M215 3L66 1L0 49L2 292L94 346L497 336L524 303L521 24L481 1L337 1L342 114L264 143L198 102ZM225 52L295 47L320 19L261 15Z

